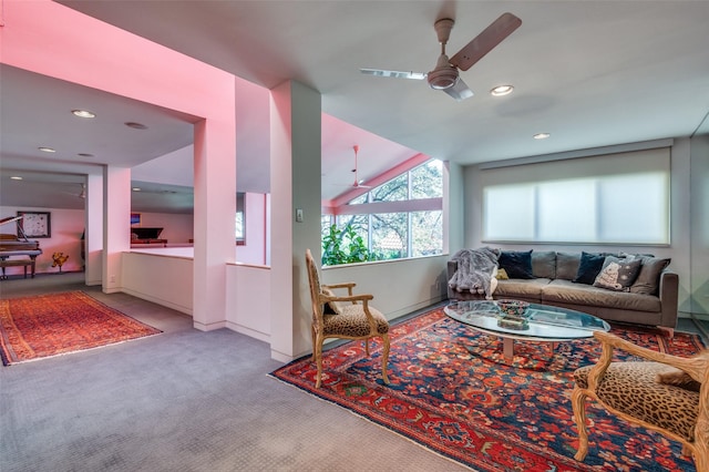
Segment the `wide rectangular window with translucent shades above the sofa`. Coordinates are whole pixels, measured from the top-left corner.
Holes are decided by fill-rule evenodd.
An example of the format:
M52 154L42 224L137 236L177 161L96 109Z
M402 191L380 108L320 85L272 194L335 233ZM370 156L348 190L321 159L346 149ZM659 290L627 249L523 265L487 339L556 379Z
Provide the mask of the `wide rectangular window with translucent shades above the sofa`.
M482 171L483 240L669 244L669 150Z

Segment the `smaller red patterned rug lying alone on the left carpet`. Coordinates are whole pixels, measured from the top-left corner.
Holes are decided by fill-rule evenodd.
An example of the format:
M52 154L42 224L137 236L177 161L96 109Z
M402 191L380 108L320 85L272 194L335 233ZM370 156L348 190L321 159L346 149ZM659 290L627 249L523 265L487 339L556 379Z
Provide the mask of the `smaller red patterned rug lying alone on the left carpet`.
M0 355L4 366L158 332L82 291L0 300Z

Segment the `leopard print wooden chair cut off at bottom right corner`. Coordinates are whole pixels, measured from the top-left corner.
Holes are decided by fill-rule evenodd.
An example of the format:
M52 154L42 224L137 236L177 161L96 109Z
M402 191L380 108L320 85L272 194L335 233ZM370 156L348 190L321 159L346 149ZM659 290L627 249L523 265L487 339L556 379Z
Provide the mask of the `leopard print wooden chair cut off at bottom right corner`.
M586 398L592 398L618 418L679 441L682 454L693 456L697 471L709 471L707 356L670 356L609 332L597 331L594 337L603 346L598 363L574 372L572 404L579 442L574 458L583 461L588 453L585 407ZM648 361L612 362L614 348Z

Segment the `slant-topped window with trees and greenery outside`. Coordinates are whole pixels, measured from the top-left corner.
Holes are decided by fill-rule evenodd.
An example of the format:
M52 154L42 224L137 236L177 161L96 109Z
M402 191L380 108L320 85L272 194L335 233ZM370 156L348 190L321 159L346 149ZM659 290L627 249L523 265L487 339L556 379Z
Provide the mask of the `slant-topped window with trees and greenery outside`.
M362 238L369 260L441 254L442 196L443 163L428 161L348 202L337 215L322 215L323 240L336 225L343 237L351 229Z

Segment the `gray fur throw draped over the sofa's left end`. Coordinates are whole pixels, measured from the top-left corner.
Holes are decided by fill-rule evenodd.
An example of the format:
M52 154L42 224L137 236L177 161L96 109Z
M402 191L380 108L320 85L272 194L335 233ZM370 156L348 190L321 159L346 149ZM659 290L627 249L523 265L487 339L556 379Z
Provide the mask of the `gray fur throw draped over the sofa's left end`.
M458 263L458 270L448 285L456 291L470 290L492 299L497 286L495 274L499 256L499 252L487 247L459 250L452 258Z

